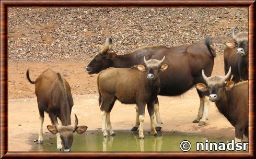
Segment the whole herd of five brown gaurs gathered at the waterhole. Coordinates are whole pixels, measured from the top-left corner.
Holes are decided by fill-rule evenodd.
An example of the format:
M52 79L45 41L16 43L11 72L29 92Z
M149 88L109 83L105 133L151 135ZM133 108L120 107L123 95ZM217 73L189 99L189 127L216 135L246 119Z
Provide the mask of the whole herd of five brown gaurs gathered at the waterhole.
M107 38L102 51L86 67L88 74L98 74L103 137L107 138L108 133L115 135L110 112L116 100L136 104L132 131L139 128L141 139L144 139L143 123L147 105L151 131L158 136L161 118L157 95L180 95L194 86L200 106L193 123L205 125L210 102L215 102L219 112L235 127L235 142L242 142L243 135L249 137L248 33L235 34L236 28L231 33L232 40L225 43L223 77L211 76L216 52L208 38L191 45L143 47L124 55L110 53L112 39ZM30 79L28 69L27 79L36 84L40 115L38 143L43 142L42 126L46 112L52 123L47 129L56 134L57 149L71 151L73 133L83 133L87 126L78 126L76 115L75 123L71 123L73 98L68 82L51 69L43 71L36 81ZM61 120L61 125L57 118Z

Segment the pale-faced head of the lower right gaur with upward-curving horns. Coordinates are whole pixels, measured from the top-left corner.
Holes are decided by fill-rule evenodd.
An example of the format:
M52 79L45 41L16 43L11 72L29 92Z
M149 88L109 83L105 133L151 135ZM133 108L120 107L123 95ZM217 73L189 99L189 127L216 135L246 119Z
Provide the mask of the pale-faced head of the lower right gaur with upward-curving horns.
M229 67L227 75L225 75L224 77L223 76L206 77L204 74L204 70L202 70L202 76L206 82L206 85L204 85L203 83L197 83L196 89L201 92L205 92L208 90L210 92L209 100L212 102L216 102L222 99L224 96L224 92L226 90L231 89L235 84L233 81L227 81L231 76L231 67Z

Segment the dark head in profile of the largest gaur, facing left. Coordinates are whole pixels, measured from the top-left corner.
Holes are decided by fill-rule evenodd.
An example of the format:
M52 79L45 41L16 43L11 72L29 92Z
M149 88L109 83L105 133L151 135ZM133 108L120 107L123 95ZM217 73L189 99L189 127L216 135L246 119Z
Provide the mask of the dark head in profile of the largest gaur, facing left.
M97 54L85 68L88 74L98 74L100 71L109 68L111 59L115 58L117 54L109 53L112 48L112 39L107 38L105 46L102 48L101 52Z

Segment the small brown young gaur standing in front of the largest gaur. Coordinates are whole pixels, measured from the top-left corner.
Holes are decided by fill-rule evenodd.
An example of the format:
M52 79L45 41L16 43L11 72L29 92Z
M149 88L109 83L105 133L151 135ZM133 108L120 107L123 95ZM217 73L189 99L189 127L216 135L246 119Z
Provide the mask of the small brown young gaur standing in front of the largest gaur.
M144 57L146 68L137 65L132 68L108 68L100 72L97 84L104 137L108 137L107 128L111 136L115 134L110 123L110 112L116 100L124 104L137 105L141 139L144 138L143 122L147 104L151 130L154 135L158 135L154 124L154 105L160 89L159 72L168 68L166 64L161 65L164 60L165 56L160 61L146 60Z

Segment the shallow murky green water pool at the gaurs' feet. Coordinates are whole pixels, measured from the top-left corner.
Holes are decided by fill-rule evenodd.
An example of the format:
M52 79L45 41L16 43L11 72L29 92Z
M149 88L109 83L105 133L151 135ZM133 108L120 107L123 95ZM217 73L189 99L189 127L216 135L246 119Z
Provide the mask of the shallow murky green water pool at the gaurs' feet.
M196 142L224 142L230 141L224 137L205 138L195 134L160 132L160 136L153 136L152 133L144 131L144 140L139 139L138 132L115 131L114 137L103 138L101 131L89 131L84 134L74 134L74 141L71 148L75 151L181 151L180 143L188 140L191 143L191 150L195 151ZM33 144L31 151L57 151L56 137L48 138L43 144Z

